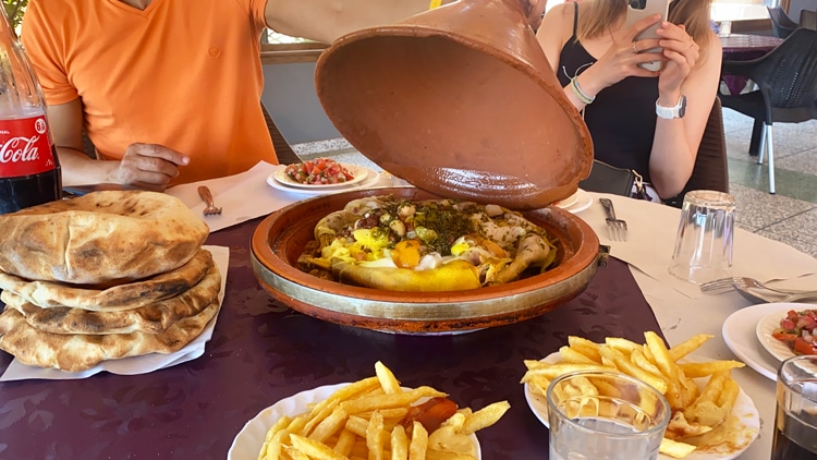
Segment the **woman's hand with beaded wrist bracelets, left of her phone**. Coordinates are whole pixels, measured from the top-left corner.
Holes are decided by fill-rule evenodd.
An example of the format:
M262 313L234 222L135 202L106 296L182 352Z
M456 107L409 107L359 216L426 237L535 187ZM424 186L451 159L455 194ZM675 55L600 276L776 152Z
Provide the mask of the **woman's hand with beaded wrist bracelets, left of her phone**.
M635 37L660 19L661 16L658 14L645 17L627 27L618 37L613 37L613 43L605 55L587 69L585 72L587 75L583 74L582 87L590 95L596 95L601 89L612 86L627 76L658 76L658 72L646 70L638 64L667 60L660 52L646 51L657 48L659 39L644 38L636 40Z

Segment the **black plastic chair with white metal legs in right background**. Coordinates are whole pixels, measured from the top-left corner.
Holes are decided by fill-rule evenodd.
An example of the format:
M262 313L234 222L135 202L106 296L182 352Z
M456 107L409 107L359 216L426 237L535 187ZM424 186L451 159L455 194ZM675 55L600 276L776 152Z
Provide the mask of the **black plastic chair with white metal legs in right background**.
M817 31L797 28L777 48L753 61L723 61L722 73L743 75L757 90L732 96L721 104L763 123L757 164L769 154L769 193L775 193L775 155L771 125L817 118Z

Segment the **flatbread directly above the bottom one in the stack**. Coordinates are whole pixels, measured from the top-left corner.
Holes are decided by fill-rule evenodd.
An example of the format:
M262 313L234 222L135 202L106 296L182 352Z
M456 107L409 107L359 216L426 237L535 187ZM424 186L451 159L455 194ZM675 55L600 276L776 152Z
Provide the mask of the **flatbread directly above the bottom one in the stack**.
M7 308L14 308L38 330L54 334L130 334L166 331L174 323L202 312L218 296L221 275L210 267L196 286L181 294L123 312L89 312L82 308L40 308L10 291L0 294Z

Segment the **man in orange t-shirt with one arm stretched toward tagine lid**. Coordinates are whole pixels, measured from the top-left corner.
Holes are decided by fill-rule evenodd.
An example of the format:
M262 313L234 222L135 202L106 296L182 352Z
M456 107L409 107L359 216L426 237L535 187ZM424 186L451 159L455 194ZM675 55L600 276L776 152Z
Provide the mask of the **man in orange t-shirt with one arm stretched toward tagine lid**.
M22 40L48 104L63 183L163 190L277 162L260 108L265 26L330 43L439 3L32 0ZM83 153L83 129L97 160Z

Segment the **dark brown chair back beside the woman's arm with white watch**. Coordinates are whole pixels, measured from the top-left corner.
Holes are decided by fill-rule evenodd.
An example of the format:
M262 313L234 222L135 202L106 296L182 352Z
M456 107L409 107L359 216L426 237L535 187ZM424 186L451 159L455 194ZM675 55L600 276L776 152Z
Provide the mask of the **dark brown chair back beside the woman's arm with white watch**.
M693 190L715 190L729 193L727 136L723 133L723 111L720 99L717 97L704 129L704 137L700 140L698 156L695 158L690 181L686 182L683 192L674 198L666 199L664 203L680 208L684 203L686 192Z

